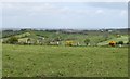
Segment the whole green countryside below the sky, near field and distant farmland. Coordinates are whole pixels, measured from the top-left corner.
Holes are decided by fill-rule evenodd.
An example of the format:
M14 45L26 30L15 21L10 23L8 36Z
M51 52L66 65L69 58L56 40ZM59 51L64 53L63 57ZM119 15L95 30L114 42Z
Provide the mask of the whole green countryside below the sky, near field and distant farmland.
M126 30L21 29L2 35L3 77L128 76ZM109 41L117 43L112 47Z

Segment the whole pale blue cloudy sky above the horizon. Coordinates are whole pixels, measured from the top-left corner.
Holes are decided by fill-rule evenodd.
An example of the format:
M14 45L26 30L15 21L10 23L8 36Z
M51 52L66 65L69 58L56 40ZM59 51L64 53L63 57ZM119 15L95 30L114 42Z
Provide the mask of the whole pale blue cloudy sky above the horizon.
M127 2L3 2L2 28L127 28Z

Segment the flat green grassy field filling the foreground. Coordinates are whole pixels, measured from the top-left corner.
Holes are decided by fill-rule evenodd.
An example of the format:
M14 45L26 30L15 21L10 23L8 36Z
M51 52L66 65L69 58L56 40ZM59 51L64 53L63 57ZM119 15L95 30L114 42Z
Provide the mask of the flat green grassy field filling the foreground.
M3 77L127 77L127 48L3 44Z

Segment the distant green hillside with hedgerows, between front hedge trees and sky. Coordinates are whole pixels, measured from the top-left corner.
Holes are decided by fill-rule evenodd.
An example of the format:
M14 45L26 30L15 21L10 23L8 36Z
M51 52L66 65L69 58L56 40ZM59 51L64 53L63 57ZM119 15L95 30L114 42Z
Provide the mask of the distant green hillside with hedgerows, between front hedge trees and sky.
M129 29L98 29L98 30L75 30L75 29L18 29L18 30L2 30L2 38L8 39L12 36L18 39L34 39L44 38L44 41L54 41L60 39L62 43L66 40L73 40L84 45L84 39L90 39L91 45L105 45L109 41L128 41ZM121 37L117 37L121 36Z

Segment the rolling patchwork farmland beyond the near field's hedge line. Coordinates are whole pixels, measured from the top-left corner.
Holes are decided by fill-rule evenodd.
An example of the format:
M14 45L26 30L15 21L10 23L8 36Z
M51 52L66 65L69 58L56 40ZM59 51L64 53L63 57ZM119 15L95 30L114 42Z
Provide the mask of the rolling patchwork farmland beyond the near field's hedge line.
M65 41L70 40L75 42L75 45L77 43L86 45L84 39L90 39L90 45L106 45L109 41L128 42L127 29L123 31L115 29L113 32L108 32L108 30L5 30L2 34L3 42L9 42L8 39L13 36L18 38L18 43L27 43L27 39L30 39L31 44L49 44L49 42L58 41L61 45L64 45Z

